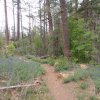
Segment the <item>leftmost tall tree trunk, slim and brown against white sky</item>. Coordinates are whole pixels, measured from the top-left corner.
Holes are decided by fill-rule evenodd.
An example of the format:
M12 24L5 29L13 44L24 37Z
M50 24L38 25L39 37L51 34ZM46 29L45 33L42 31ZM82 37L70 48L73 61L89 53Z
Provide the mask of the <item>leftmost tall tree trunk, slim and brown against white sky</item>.
M4 0L4 9L5 9L5 40L6 45L9 43L9 30L8 30L8 18L7 18L7 2Z

